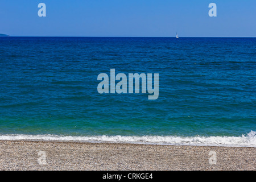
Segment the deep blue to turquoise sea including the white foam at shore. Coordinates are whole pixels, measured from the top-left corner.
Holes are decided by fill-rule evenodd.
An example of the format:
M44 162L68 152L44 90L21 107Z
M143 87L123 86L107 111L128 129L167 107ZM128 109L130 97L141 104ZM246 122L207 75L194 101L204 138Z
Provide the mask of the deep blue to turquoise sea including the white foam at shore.
M0 68L0 140L256 147L256 38L1 37ZM98 93L110 69L158 99Z

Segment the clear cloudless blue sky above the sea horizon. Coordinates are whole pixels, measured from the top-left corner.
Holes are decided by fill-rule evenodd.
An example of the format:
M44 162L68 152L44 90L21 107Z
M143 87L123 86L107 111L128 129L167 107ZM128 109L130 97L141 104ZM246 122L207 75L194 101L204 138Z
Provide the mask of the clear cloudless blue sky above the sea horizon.
M46 17L38 4L46 4ZM208 5L217 5L209 17ZM256 0L1 0L0 34L11 36L256 37Z

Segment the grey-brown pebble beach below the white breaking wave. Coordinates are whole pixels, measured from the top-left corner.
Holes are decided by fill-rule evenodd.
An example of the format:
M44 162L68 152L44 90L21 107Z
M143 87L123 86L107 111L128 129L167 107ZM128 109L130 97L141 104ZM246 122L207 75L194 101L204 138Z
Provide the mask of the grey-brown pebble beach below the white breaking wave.
M0 170L256 170L256 148L0 141Z

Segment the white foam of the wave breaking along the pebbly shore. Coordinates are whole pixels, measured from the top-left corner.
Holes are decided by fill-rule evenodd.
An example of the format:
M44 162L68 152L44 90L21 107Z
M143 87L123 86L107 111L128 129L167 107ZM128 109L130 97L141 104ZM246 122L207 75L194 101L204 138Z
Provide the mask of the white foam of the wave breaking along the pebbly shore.
M90 136L72 137L58 135L0 135L0 140L45 140L69 142L140 143L187 146L256 147L256 131L241 137L175 137L175 136Z

